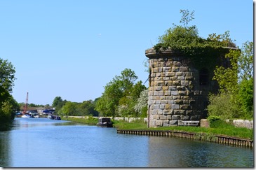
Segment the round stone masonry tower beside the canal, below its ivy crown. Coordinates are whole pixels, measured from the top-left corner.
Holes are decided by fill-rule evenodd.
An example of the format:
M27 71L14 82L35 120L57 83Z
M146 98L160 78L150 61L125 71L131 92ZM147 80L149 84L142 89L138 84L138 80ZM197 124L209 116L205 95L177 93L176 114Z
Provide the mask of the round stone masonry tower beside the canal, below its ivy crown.
M182 120L206 118L208 94L218 89L213 69L206 65L198 70L191 59L170 49L156 52L150 48L145 55L150 71L148 126L175 126Z

